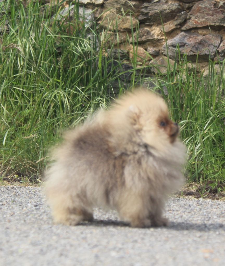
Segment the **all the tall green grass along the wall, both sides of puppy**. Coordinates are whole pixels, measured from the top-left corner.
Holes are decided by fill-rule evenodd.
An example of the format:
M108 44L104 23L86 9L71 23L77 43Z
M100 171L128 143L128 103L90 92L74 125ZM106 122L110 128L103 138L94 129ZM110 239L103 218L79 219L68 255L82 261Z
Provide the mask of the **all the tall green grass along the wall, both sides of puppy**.
M47 149L59 140L61 131L97 108L107 108L115 97L115 83L120 94L149 80L147 68L138 68L136 44L131 41L134 69L122 73L131 79L118 79L122 66L104 56L102 28L94 22L85 28L77 4L75 14L65 21L50 20L53 12L56 18L59 15L59 5L41 11L38 1L24 8L10 0L0 7L1 180L37 181ZM6 21L9 31L3 27ZM162 94L163 87L168 90L164 98L188 148L187 180L217 188L225 182L224 63L219 74L212 61L209 66L204 78L189 67L186 57L180 58L167 74L152 81Z

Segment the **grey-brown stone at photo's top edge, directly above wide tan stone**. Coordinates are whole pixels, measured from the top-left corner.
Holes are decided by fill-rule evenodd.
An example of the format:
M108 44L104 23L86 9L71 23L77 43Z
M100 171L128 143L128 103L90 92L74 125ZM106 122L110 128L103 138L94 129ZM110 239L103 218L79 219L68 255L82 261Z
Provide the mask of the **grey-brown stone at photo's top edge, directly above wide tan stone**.
M133 13L139 13L141 4L139 1L128 1L128 0L109 0L104 4L105 10L110 9L111 13L124 13L129 11Z

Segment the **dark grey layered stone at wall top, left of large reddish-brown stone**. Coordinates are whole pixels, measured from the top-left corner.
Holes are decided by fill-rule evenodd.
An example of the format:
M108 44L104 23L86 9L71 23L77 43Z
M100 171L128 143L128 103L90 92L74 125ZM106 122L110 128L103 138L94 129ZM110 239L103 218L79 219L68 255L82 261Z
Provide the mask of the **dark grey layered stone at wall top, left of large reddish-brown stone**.
M174 19L183 10L178 3L144 3L142 9L140 10L139 21L140 23L145 23L146 25L161 24L161 18L163 23Z

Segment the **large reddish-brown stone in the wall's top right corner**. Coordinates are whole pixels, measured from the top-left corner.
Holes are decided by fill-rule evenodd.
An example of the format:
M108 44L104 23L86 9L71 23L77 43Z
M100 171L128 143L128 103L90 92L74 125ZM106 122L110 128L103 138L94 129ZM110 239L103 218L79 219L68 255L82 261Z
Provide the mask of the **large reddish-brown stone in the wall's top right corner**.
M204 26L225 26L224 11L216 8L216 1L204 0L196 3L187 16L182 30Z

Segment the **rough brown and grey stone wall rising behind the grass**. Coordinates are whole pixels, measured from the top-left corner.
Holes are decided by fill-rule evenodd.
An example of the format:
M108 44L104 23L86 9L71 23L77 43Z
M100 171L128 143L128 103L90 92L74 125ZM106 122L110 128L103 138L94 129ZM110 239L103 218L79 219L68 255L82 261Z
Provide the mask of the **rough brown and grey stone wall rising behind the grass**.
M208 64L209 57L216 62L225 58L225 0L80 0L79 3L86 9L97 8L94 17L107 31L102 41L106 41L108 48L114 44L122 54L127 53L130 61L134 60L134 49L127 38L132 43L134 33L135 45L138 42L136 60L140 65L146 62L166 65L167 51L173 64L173 60L178 60L178 44L181 56L187 54L194 64L198 55L202 67ZM118 54L118 50L114 53Z

